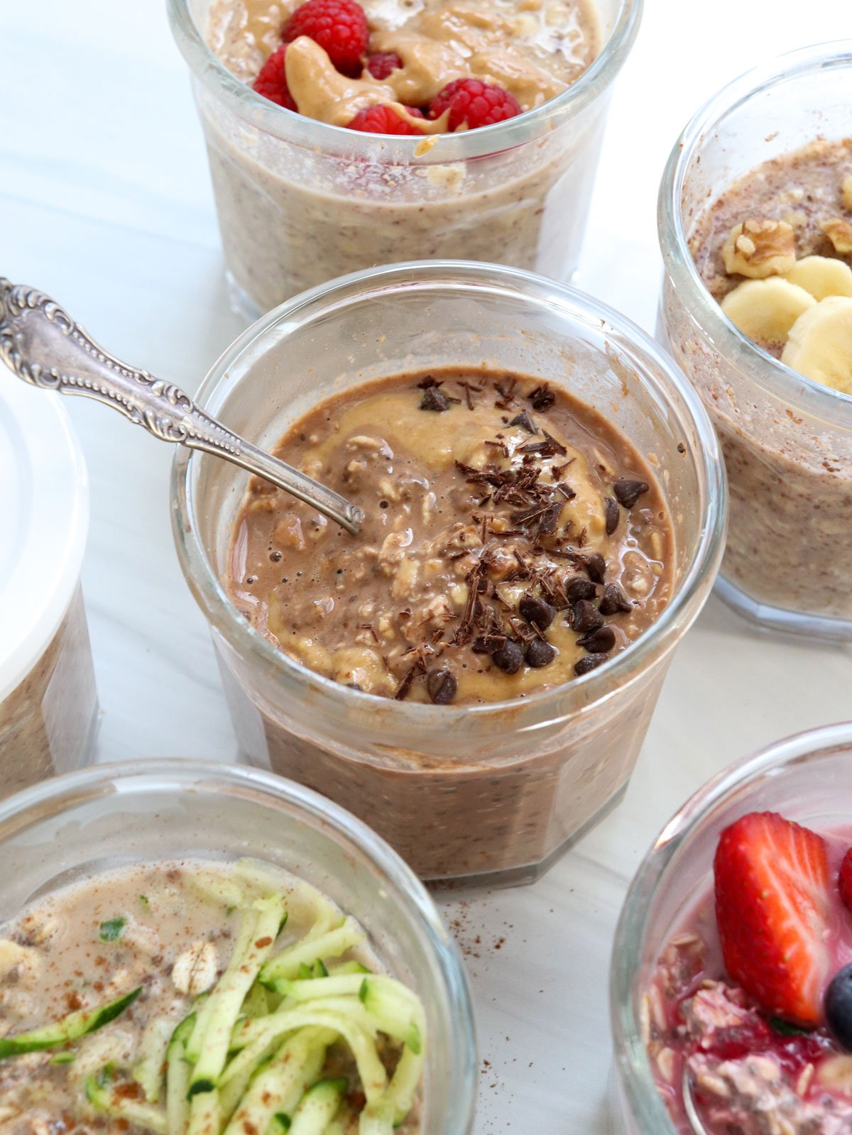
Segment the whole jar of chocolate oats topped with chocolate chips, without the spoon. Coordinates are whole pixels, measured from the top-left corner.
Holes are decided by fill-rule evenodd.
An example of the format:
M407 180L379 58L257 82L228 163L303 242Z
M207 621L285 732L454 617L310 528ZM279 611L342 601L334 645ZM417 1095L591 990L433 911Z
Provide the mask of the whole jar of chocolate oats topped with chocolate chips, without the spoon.
M450 262L294 301L200 398L368 513L343 537L178 455L243 757L424 877L536 877L619 799L716 570L724 482L688 385L594 301Z

